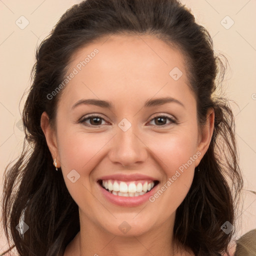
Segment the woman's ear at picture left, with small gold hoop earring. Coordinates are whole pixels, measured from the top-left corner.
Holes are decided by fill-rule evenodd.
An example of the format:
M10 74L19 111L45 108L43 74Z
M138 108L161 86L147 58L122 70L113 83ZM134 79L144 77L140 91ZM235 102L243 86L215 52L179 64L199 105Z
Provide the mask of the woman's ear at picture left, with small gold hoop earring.
M45 135L46 142L50 150L52 159L55 159L57 158L57 154L58 154L56 134L55 134L55 130L50 126L49 117L45 111L41 115L40 125ZM57 160L56 162L58 163Z

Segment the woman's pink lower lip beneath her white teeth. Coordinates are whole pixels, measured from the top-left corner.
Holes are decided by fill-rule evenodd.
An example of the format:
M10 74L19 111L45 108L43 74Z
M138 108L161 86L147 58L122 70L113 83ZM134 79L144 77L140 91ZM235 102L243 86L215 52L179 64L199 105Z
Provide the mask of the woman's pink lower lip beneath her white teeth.
M97 182L98 183L98 182ZM128 207L133 207L140 205L146 201L149 201L149 197L154 194L154 190L158 186L155 185L150 191L148 191L145 194L141 194L138 196L120 196L120 195L115 195L110 192L108 192L106 189L104 189L99 183L98 186L103 194L103 196L110 201L111 203L117 204L119 206L128 206Z

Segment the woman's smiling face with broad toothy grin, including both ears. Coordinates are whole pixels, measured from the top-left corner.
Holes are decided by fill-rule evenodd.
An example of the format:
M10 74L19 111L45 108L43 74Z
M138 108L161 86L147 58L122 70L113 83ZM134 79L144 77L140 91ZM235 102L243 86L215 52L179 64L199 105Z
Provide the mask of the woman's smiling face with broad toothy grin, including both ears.
M179 51L145 35L111 35L73 55L56 130L45 112L41 125L81 225L114 235L173 227L214 118L199 134L185 65Z

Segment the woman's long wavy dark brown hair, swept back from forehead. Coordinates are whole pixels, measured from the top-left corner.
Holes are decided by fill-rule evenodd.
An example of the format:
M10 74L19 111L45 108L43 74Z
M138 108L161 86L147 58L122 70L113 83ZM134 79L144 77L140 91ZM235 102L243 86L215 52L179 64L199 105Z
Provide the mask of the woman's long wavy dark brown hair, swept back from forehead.
M61 172L54 169L40 117L46 111L54 124L64 88L52 99L47 95L63 80L72 54L94 39L115 33L149 34L177 47L186 59L199 127L208 108L214 108L212 139L199 163L200 171L195 171L191 187L177 208L173 236L198 256L227 252L243 185L234 117L228 100L220 95L228 62L214 53L208 31L177 0L82 1L68 9L40 43L22 112L23 150L4 172L2 212L8 242L10 235L23 256L62 255L79 231L78 206ZM213 95L217 88L218 96ZM22 216L29 229L20 235L16 225ZM229 233L221 230L226 221L234 226Z

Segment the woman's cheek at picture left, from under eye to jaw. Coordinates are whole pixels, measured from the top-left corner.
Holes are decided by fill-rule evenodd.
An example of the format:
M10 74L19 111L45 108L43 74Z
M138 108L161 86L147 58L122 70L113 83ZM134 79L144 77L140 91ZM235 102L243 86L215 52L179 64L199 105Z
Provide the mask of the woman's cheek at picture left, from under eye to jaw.
M84 201L91 200L87 192L91 191L90 173L99 161L97 155L109 138L68 129L60 129L58 134L62 134L58 140L58 151L66 187L74 201L83 205Z

